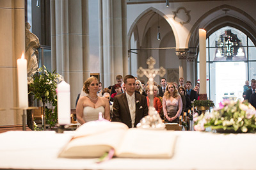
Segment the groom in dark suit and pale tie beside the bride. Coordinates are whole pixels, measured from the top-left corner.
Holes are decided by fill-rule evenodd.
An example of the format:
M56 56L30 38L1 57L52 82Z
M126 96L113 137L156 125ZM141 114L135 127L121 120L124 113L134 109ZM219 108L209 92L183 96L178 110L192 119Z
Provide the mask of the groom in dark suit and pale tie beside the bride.
M134 92L135 78L132 75L124 77L124 87L125 93L114 97L112 121L120 121L132 128L148 115L147 98Z

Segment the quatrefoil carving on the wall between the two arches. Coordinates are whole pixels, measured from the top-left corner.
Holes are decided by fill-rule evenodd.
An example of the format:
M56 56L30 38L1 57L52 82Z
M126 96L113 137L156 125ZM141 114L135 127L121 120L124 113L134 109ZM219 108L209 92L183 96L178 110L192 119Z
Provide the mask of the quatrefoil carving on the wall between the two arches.
M176 11L173 11L173 20L179 22L182 26L184 24L188 24L191 17L190 17L190 10L186 10L185 7L181 6L179 8L177 8Z

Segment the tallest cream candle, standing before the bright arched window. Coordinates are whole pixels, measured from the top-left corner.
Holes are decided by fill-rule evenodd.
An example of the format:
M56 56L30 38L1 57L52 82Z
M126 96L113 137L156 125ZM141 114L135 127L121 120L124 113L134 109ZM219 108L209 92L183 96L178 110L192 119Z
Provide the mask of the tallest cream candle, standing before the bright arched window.
M199 29L200 94L206 94L206 31Z

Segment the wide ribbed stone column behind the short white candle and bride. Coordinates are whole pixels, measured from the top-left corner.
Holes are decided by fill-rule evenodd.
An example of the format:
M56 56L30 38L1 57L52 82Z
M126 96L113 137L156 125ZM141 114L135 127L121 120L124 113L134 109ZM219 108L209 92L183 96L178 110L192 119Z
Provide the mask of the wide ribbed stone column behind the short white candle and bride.
M90 77L88 0L51 0L52 70L70 84L71 107Z

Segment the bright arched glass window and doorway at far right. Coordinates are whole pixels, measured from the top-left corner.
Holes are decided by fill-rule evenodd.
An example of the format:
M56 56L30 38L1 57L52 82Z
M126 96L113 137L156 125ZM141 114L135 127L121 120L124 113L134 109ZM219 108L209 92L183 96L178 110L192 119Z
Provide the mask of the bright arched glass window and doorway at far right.
M206 40L207 97L218 105L224 99L243 100L245 81L256 79L256 48L242 31L226 26ZM199 58L197 63L200 79Z

